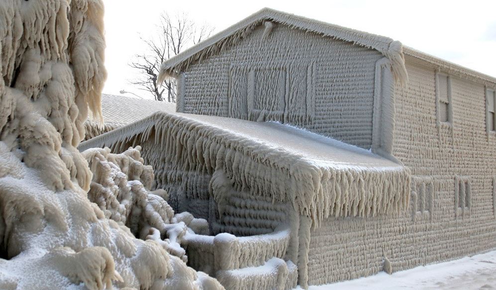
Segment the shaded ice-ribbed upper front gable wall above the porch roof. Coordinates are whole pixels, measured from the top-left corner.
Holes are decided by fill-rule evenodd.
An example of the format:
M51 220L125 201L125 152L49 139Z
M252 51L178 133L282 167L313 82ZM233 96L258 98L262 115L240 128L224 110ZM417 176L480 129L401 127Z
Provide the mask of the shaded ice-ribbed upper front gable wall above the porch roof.
M260 22L181 72L178 111L277 120L370 148L381 57L352 42Z

